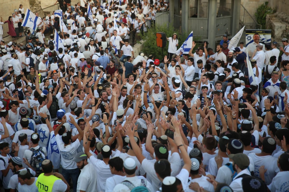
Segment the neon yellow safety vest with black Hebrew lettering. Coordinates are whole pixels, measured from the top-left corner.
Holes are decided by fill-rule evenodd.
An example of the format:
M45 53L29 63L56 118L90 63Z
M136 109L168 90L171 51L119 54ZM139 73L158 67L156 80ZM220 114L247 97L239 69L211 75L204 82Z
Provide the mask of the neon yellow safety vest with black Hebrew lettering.
M36 187L38 188L39 192L51 192L53 184L56 180L61 179L54 175L45 176L44 173L42 173L37 178Z

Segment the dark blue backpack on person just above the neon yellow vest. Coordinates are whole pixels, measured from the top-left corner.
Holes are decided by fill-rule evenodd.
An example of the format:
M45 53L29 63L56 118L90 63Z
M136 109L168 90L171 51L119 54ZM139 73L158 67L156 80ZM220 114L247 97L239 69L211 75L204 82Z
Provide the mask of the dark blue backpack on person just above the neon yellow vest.
M30 151L32 151L32 156L30 160L30 165L34 168L37 174L42 173L42 161L45 160L45 155L42 151L42 147L39 147L38 149L30 148Z

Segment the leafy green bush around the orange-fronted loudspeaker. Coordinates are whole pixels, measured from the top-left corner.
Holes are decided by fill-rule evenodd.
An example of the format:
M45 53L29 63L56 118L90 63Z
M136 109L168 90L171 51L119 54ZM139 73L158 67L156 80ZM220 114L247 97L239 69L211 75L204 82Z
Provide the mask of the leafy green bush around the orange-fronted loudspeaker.
M142 51L144 52L145 55L149 56L152 54L155 59L160 59L162 60L162 48L157 46L156 43L156 36L155 34L157 32L163 32L166 33L166 37L172 37L173 33L177 33L177 38L179 40L179 45L177 48L180 48L180 46L183 44L183 42L186 40L188 37L188 33L183 33L179 34L179 32L174 30L174 27L172 24L169 26L167 25L162 25L162 26L155 26L151 27L150 29L147 30L147 33L144 35L141 35L141 39L144 40L142 42L143 48ZM199 37L194 37L194 41L198 41L200 38ZM198 46L198 45L197 45ZM196 47L197 47L196 46ZM166 43L166 47L163 48L164 56L168 54L168 42Z

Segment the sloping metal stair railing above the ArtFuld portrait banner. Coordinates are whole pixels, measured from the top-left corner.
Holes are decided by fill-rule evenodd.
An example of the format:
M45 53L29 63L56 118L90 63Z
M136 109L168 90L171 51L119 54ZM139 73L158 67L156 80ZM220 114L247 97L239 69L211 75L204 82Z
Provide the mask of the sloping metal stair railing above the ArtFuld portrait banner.
M241 5L240 7L240 28L246 26L246 29L262 29L262 25L250 15L246 8Z

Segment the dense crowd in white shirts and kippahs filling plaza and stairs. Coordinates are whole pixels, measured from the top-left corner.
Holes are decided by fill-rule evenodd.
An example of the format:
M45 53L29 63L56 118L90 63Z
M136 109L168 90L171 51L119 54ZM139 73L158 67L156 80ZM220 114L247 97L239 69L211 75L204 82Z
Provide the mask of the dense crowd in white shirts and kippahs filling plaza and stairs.
M135 55L126 18L166 0L57 2L68 33L49 14L26 44L0 41L1 190L288 191L288 39L255 34L247 58L227 35L177 54L173 34L168 56Z

